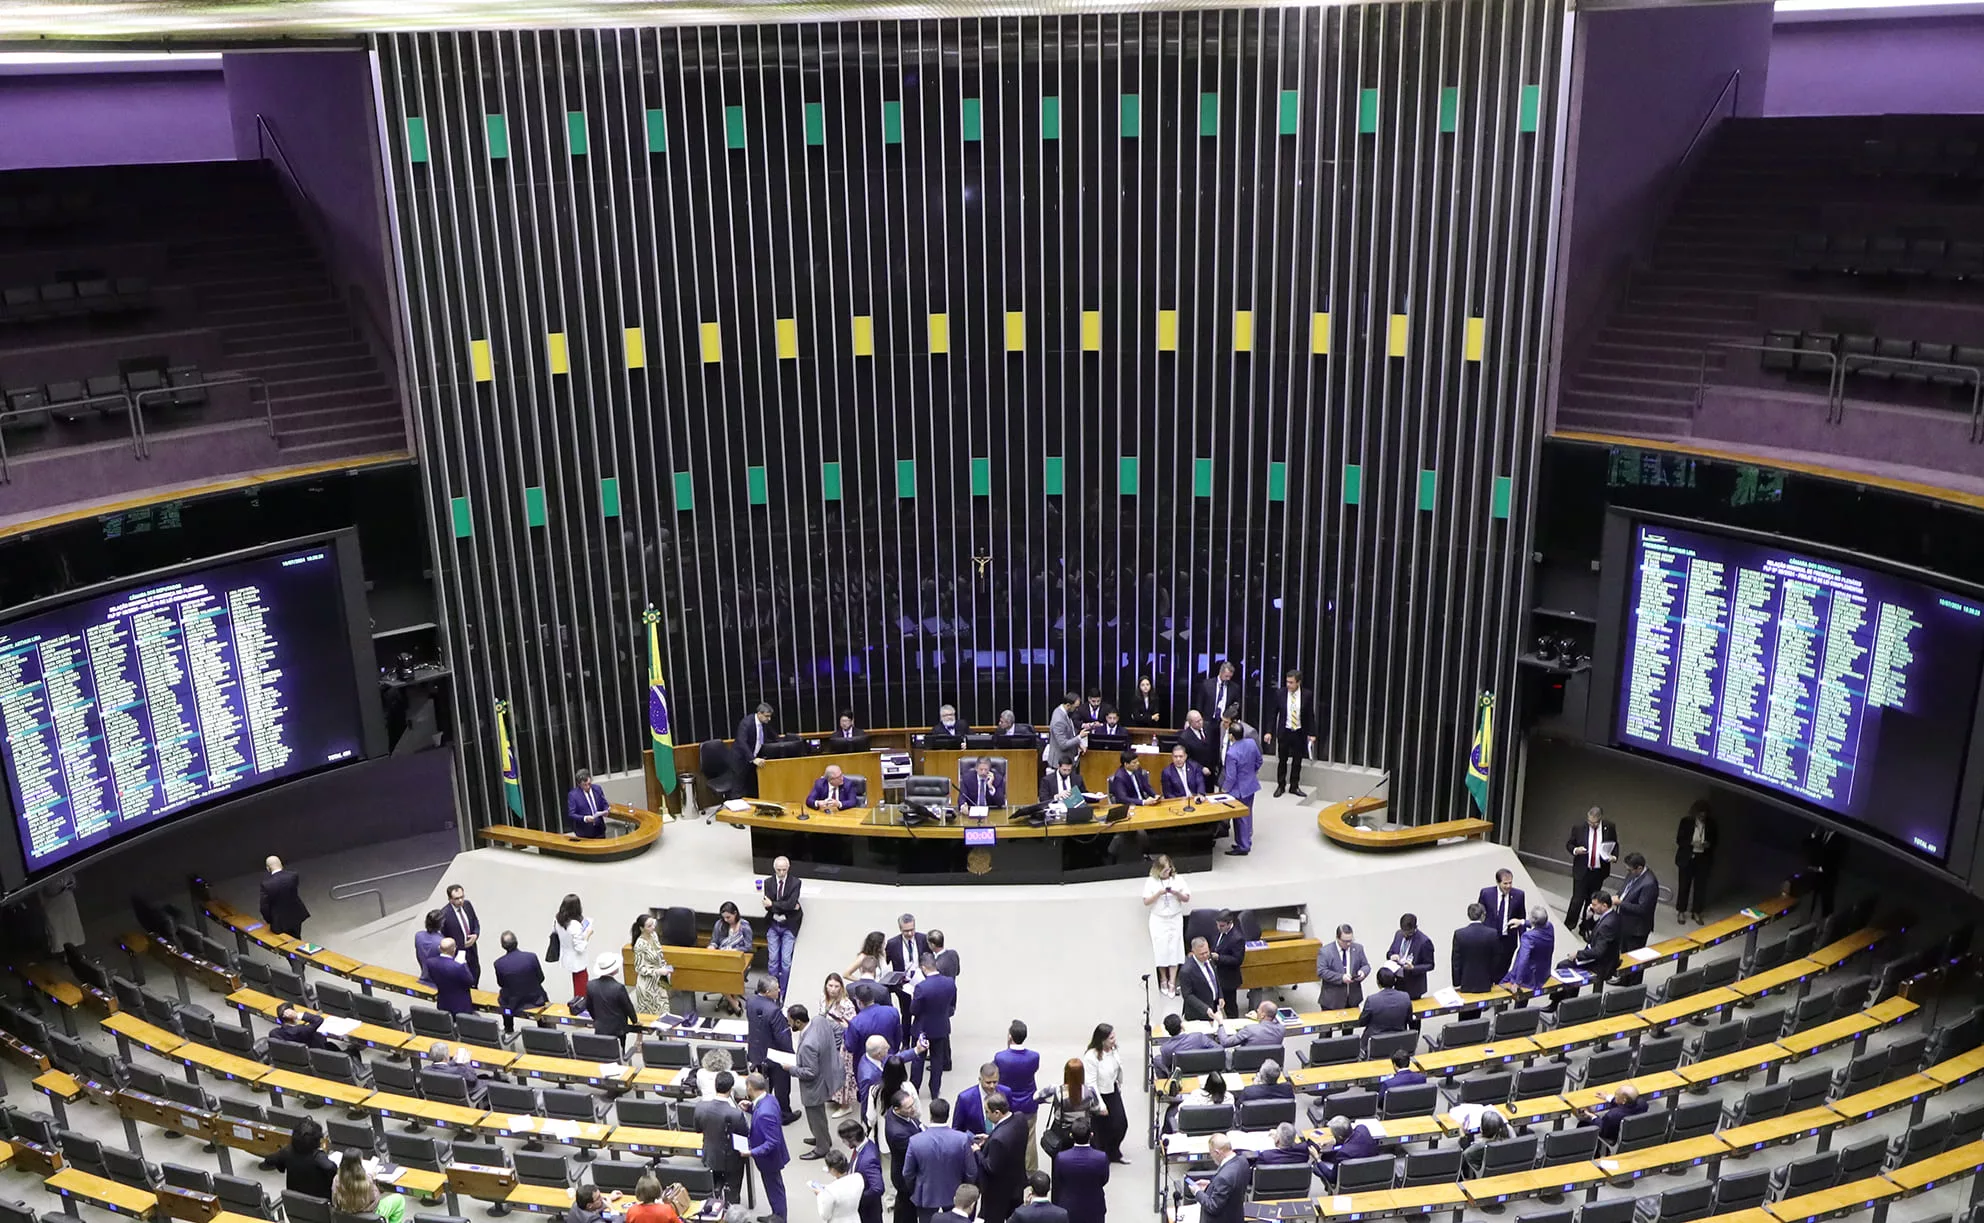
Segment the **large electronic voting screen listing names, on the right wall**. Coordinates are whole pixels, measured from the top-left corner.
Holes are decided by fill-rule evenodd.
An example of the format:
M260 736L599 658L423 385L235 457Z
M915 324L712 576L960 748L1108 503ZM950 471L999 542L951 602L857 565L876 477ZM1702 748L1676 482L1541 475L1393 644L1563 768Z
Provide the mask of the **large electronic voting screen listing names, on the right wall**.
M1984 604L1752 538L1631 530L1613 743L1946 858Z

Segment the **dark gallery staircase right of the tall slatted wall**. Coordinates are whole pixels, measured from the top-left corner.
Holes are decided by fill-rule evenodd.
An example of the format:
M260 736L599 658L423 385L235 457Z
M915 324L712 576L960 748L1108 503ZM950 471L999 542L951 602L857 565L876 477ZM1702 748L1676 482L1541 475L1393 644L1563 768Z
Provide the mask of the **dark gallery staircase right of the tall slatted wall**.
M1758 343L1760 298L1782 288L1790 234L1823 228L1827 204L1869 199L1851 175L1861 139L1897 119L1728 119L1716 129L1651 258L1633 272L1603 332L1563 377L1557 431L1684 437L1706 353L1708 381L1730 359L1714 341ZM1875 199L1879 189L1875 187Z

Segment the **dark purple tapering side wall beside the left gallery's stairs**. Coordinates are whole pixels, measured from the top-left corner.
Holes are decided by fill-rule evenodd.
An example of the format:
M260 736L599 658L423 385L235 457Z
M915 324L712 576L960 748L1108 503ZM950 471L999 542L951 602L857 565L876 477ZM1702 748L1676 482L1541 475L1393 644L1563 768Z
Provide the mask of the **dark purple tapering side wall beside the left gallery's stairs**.
M234 149L260 157L256 115L276 131L290 167L329 230L323 252L341 286L355 286L393 363L393 290L385 252L385 181L367 52L228 52L222 56Z

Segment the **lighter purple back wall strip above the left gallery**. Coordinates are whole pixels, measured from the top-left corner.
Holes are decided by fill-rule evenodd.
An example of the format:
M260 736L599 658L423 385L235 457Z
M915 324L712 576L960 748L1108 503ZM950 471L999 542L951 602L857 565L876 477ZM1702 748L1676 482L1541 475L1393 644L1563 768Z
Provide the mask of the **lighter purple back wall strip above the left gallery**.
M212 71L0 75L0 171L232 159L218 64Z

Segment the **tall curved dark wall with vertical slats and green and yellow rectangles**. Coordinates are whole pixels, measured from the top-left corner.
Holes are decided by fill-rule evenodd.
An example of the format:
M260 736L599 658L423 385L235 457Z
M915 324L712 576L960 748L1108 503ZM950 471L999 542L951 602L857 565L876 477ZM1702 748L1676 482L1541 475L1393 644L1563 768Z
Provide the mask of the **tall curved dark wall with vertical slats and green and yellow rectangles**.
M462 784L1282 669L1464 814L1559 0L381 36ZM1210 711L1208 711L1210 713ZM1506 731L1502 735L1506 741Z

